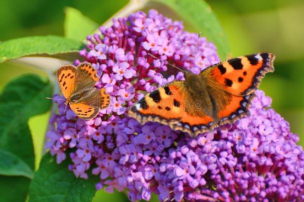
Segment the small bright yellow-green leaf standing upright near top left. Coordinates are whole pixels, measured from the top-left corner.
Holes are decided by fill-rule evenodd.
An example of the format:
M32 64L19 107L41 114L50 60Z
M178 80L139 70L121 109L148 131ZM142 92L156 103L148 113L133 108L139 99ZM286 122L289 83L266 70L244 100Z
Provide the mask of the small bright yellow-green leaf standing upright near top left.
M64 35L67 38L83 41L97 27L97 22L83 15L79 10L72 7L65 9Z

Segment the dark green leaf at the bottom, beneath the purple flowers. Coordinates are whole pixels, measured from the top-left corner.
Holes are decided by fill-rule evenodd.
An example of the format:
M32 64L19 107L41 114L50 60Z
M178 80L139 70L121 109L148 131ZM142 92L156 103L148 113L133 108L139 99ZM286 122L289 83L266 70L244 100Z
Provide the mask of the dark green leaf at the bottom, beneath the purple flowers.
M29 202L91 202L99 177L76 178L68 170L70 163L65 160L58 165L54 157L45 154L30 184Z

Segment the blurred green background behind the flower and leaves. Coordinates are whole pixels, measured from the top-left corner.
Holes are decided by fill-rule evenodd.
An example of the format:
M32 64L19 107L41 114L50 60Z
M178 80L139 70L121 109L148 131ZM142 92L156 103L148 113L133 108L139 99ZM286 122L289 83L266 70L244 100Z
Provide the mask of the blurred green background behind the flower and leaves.
M261 89L272 97L273 108L290 122L292 131L299 134L300 144L304 145L304 1L206 1L224 27L232 56L260 51L276 54L276 71L263 79ZM30 35L63 35L67 6L80 10L101 24L127 3L128 0L0 0L0 41ZM30 66L1 63L0 89L12 77L26 72L46 76L46 73ZM41 157L48 116L49 113L39 115L29 121L36 167ZM98 192L95 201L100 200L128 201L124 194Z

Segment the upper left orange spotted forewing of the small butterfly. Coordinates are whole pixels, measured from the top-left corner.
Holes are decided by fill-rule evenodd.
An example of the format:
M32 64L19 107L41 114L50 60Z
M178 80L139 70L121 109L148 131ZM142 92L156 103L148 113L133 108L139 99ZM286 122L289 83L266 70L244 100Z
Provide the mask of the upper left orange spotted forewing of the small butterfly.
M57 79L63 96L68 99L75 89L76 68L64 65L57 70Z

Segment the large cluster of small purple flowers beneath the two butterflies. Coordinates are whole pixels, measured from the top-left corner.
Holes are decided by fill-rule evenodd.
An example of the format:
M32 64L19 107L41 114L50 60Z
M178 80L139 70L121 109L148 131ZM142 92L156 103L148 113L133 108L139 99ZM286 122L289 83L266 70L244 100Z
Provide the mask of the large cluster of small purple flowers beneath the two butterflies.
M212 43L155 10L113 19L100 31L87 37L80 55L97 69L96 87L106 88L111 103L83 121L70 109L64 115L64 102L55 100L46 148L58 164L69 154L76 177L92 172L100 177L97 190L127 189L131 201L149 201L152 193L160 201L304 201L299 138L263 91L257 90L250 116L196 138L126 116L144 92L183 79L168 63L198 73L219 62Z

